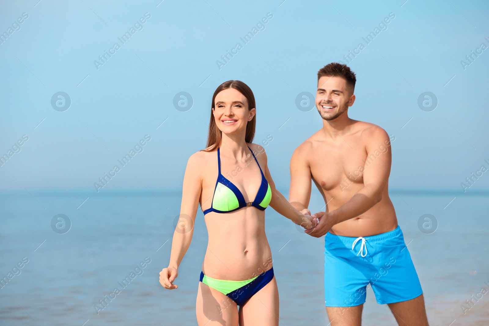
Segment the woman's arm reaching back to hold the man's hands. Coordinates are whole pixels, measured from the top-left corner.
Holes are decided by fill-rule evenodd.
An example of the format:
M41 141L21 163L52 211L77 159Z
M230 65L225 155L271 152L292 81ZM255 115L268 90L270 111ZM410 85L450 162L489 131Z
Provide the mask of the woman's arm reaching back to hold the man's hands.
M294 206L292 206L289 201L275 188L275 183L270 175L267 164L267 154L263 147L255 145L255 149L261 149L256 155L257 159L260 161L260 166L262 167L263 174L270 185L272 191L272 199L270 201L270 206L277 211L279 214L289 218L295 224L300 224L306 229L311 229L315 225L315 221L312 221L312 217L309 215L303 215Z

